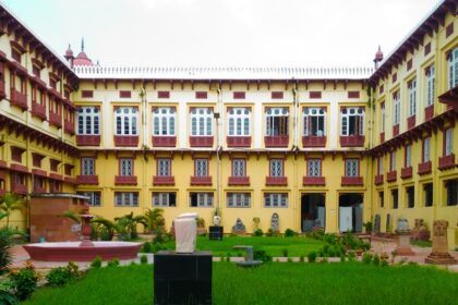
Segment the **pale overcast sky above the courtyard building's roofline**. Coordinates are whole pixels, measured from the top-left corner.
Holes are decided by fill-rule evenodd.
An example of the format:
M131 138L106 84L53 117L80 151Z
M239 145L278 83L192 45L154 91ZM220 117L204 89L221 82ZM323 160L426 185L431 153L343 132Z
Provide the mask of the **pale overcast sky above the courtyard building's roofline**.
M437 0L1 0L101 65L373 66Z

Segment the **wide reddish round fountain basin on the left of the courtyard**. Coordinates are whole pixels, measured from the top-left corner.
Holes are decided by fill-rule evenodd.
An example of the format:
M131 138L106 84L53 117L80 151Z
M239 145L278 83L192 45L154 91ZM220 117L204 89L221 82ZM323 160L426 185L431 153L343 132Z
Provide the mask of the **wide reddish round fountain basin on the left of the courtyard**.
M43 261L91 261L97 255L103 260L133 259L142 243L93 242L94 246L80 246L81 242L36 243L24 245L33 260Z

